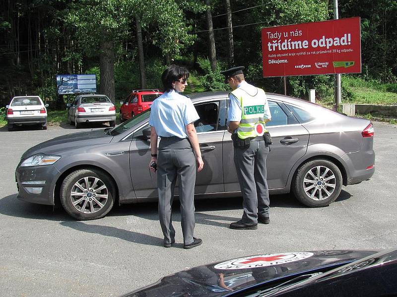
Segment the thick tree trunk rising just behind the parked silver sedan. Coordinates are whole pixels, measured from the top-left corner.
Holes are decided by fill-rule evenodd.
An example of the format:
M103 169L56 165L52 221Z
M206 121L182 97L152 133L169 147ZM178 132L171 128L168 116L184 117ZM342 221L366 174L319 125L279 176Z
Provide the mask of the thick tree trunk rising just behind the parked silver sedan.
M100 75L100 88L101 94L106 95L115 103L115 52L113 40L107 39L108 34L103 32L102 40L100 42L99 54L99 75Z

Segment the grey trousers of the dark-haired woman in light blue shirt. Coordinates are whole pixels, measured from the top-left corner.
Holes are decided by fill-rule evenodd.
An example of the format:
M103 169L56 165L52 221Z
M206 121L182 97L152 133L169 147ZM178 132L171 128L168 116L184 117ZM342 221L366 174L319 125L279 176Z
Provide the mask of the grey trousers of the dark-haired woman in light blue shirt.
M183 241L185 245L190 245L193 243L195 229L196 158L188 139L161 138L158 149L158 214L164 242L175 242L171 206L178 178Z

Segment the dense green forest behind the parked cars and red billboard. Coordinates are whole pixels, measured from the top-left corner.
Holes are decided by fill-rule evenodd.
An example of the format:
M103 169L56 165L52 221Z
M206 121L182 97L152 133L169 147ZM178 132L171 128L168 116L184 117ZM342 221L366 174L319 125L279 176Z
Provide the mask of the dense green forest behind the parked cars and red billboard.
M34 94L58 99L61 108L65 102L56 95L57 74L95 73L98 93L123 99L141 86L161 88L161 72L170 63L187 66L204 90L226 90L219 72L244 65L251 82L283 93L282 78L262 77L261 28L333 18L332 0L0 3L1 106L13 96ZM216 65L208 58L208 12ZM339 0L339 17L361 17L364 81L397 83L396 15L397 0ZM289 77L287 82L293 96L304 97L312 88L320 97L333 96L333 76Z

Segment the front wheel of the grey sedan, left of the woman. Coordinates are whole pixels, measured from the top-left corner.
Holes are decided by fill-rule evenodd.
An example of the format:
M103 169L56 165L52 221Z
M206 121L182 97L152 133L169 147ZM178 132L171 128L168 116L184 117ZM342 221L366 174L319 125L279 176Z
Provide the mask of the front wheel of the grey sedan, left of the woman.
M62 182L60 199L66 212L75 219L95 220L103 218L112 209L115 193L114 183L106 173L79 169Z

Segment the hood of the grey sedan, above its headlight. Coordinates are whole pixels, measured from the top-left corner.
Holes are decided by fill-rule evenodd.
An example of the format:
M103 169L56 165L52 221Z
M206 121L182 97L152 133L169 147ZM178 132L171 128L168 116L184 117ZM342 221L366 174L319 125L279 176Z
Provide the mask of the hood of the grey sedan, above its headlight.
M21 159L42 153L60 154L63 150L70 148L80 148L110 143L113 136L104 133L104 130L90 130L78 133L67 134L47 140L26 150Z

